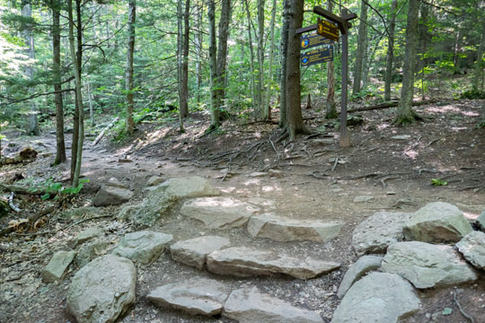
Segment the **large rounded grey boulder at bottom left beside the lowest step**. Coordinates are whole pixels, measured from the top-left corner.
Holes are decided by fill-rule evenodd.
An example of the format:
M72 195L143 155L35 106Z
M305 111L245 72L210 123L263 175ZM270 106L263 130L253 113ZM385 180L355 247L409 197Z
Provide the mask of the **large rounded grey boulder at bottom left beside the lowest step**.
M113 255L96 258L75 277L67 292L67 311L79 323L112 323L135 302L137 268Z

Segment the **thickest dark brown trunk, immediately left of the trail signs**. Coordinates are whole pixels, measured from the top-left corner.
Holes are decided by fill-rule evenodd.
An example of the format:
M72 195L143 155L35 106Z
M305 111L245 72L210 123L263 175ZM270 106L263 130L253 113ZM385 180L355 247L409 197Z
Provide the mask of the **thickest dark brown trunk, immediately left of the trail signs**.
M306 133L302 116L300 88L300 35L295 31L302 28L304 0L292 0L290 21L288 24L287 43L287 131L290 140L301 133Z

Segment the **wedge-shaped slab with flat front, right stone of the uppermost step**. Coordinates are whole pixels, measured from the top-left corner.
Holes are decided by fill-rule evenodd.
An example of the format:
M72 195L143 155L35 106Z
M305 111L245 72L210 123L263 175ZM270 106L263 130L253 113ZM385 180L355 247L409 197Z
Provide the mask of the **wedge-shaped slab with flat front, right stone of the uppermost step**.
M248 231L253 237L277 241L326 242L337 237L344 224L320 220L297 220L276 214L260 214L251 216Z

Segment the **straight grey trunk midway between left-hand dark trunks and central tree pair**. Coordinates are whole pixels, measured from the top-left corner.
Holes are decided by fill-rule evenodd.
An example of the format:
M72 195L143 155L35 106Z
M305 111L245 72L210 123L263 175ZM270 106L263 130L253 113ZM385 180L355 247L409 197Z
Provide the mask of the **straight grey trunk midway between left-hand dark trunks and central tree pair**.
M125 90L127 92L127 119L126 131L132 135L135 131L135 121L133 120L133 52L135 51L135 22L137 21L137 0L129 0L128 8L128 50L127 50L127 70L125 78Z

